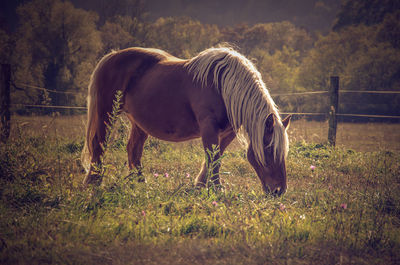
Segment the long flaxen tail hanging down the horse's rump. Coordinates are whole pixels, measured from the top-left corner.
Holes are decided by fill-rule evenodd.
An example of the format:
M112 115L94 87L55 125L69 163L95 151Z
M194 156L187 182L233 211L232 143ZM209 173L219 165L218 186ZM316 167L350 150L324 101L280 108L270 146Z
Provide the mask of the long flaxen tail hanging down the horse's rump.
M102 124L104 123L102 117L99 117L99 108L102 108L103 106L100 106L101 103L98 100L98 93L100 89L98 82L98 73L115 53L116 52L111 52L105 55L97 64L96 68L92 73L92 76L90 77L90 83L88 87L88 97L87 97L88 115L86 124L86 138L81 154L81 163L87 173L90 170L93 151L96 148L96 146L94 146L96 131L99 128L100 125L99 123ZM112 101L112 99L110 100Z

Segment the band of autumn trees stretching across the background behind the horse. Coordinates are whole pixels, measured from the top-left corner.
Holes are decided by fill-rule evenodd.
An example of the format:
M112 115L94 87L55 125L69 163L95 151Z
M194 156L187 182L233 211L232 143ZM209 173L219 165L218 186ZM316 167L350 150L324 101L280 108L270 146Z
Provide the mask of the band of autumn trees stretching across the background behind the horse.
M90 74L112 49L155 47L190 58L220 43L251 58L272 94L327 90L332 75L340 76L341 89L400 90L396 0L343 1L326 34L289 21L218 26L180 16L149 22L143 1L125 2L98 1L95 11L61 0L20 5L16 31L0 28L0 62L12 65L13 103L85 105ZM327 111L327 96L276 99L285 112ZM342 113L400 115L400 96L351 93L340 100Z

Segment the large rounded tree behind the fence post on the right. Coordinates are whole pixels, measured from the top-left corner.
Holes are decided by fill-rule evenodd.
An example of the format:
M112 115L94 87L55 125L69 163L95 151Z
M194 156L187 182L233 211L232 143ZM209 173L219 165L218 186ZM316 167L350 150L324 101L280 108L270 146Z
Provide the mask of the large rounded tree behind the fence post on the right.
M341 87L346 90L398 90L400 51L389 42L379 41L378 28L379 25L349 26L320 36L300 66L297 84L307 90L326 90L329 77L336 75L340 76ZM394 114L398 112L395 107L398 102L395 104L394 100L394 97L380 97L374 98L372 103L385 105L388 110L381 114ZM363 113L375 111L377 114L379 108L383 110L377 105L367 107L368 102L371 100L366 96L346 94L341 111L354 113L365 108Z

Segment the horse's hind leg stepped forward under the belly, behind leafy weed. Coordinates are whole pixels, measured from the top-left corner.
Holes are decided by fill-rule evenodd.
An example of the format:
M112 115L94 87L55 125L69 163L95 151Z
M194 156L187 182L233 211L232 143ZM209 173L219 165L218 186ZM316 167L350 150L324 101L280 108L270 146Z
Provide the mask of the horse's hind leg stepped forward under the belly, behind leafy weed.
M129 169L137 169L138 175L141 176L142 163L140 160L142 158L143 147L148 134L140 129L134 122L132 122L132 120L131 123L131 135L127 145ZM139 178L139 181L144 181L144 178Z

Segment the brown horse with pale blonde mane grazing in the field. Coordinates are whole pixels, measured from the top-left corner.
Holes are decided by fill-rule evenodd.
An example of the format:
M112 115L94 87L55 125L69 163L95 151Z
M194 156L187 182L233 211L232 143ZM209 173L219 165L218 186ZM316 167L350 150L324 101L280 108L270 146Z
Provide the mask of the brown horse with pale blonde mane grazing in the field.
M247 159L264 190L277 195L285 192L290 116L281 120L260 73L231 48L207 49L189 60L145 48L104 56L89 85L82 153L88 172L85 185L101 183L93 165L101 161L105 124L118 90L123 95L121 110L132 124L129 168L141 168L148 135L172 142L201 137L208 163L203 163L196 185L205 186L208 174L214 184L220 184L219 166L210 172L207 165L219 159L237 136L247 145ZM211 156L208 150L213 145L219 152Z

